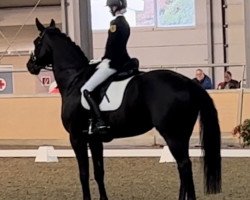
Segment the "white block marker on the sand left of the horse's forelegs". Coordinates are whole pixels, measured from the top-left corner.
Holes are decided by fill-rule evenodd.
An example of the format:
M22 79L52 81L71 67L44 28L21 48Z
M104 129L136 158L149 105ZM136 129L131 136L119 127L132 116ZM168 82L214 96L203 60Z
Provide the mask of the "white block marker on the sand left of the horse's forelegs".
M41 146L36 153L35 162L58 162L53 146Z

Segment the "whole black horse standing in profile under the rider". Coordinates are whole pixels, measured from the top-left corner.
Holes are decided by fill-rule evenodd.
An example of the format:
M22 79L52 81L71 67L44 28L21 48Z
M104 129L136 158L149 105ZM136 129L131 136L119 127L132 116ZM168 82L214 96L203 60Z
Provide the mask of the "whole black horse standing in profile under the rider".
M28 70L37 75L41 69L51 66L62 97L62 122L69 132L79 165L83 199L91 199L89 146L100 199L107 200L103 142L83 133L88 129L90 113L80 102L80 88L95 69L81 49L55 27L54 20L45 28L36 19L36 25L40 35L34 41L34 55L27 63ZM110 124L109 134L113 138L143 134L153 127L159 131L178 164L179 200L196 199L188 149L199 115L205 191L208 194L221 191L221 134L217 111L208 93L189 78L168 70L136 75L129 82L119 109L102 114Z

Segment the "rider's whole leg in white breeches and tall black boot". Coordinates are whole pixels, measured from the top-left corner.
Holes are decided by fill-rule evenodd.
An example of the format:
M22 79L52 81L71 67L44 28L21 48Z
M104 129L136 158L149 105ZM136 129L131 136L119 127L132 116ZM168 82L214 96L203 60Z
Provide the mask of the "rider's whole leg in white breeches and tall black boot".
M111 69L107 65L101 65L99 69L93 74L93 76L81 88L81 92L83 94L82 98L86 99L97 120L95 126L98 130L100 130L99 132L102 133L105 133L104 130L107 129L107 126L101 117L99 105L97 105L95 100L91 97L90 92L92 92L99 84L101 84L115 72L115 69Z

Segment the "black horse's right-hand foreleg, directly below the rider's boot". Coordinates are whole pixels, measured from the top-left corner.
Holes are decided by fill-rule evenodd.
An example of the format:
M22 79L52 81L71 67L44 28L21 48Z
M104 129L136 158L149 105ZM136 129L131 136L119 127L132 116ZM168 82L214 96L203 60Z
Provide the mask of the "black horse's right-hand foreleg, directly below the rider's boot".
M102 142L90 142L90 151L94 165L95 180L98 184L100 200L108 200L104 185L104 166L103 166L103 144Z

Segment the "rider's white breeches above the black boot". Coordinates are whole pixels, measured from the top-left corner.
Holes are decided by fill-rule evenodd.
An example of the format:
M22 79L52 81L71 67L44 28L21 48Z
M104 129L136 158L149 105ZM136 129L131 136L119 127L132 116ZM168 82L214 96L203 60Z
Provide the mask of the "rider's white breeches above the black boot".
M82 86L81 92L88 90L92 92L98 85L104 82L108 77L116 72L115 69L109 67L109 60L103 60L98 66L97 71L90 77L90 79Z

